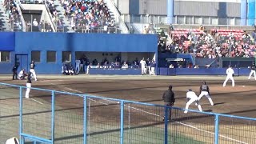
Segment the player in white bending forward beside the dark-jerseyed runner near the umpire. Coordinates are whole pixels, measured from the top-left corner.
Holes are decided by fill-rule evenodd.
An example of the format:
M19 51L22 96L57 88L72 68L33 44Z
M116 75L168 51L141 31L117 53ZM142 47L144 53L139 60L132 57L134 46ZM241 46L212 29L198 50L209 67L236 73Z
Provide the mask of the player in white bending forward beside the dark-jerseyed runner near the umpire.
M193 102L196 102L196 106L198 106L198 109L200 111L202 111L202 107L201 105L199 104L199 100L198 100L198 96L197 94L194 93L194 91L192 91L191 89L188 90L188 92L186 93L186 107L185 107L185 111L184 113L186 114L188 109L189 109L189 106L193 103Z

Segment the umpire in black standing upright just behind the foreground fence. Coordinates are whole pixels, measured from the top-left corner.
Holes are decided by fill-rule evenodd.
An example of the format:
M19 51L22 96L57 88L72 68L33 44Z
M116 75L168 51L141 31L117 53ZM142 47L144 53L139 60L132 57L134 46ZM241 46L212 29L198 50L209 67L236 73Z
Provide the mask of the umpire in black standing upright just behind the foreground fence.
M175 98L174 98L174 92L173 92L173 86L169 86L169 89L166 90L163 94L162 94L162 99L165 102L165 106L174 106L174 102L175 102ZM168 120L170 121L171 119L171 109L168 109ZM164 119L163 119L164 120Z

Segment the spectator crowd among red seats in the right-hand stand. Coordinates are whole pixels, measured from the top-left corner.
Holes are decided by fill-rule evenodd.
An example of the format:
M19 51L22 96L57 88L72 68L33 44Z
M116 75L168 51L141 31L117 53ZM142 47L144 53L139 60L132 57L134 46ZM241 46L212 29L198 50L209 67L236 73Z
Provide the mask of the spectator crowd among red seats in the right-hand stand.
M254 57L256 33L243 30L174 29L170 25L170 45L158 44L158 50L171 54L196 54L198 58Z

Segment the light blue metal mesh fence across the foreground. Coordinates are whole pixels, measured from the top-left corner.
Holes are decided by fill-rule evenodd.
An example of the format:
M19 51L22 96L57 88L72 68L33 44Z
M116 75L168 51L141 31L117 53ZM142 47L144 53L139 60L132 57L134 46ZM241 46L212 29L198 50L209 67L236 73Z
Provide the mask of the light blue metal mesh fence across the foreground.
M0 86L1 142L13 136L20 138L21 144L218 144L256 140L256 118L197 110L184 114L178 107L33 87L34 96L23 99L25 86Z

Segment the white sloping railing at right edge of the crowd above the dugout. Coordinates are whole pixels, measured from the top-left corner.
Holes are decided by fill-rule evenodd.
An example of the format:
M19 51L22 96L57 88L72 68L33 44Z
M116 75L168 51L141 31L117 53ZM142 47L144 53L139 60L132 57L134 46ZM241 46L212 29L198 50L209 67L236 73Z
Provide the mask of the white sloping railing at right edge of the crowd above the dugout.
M113 0L104 0L107 7L114 13L114 19L118 23L119 28L122 30L123 34L129 34L128 27L126 23L122 20L121 14L119 13L117 7L114 5Z

